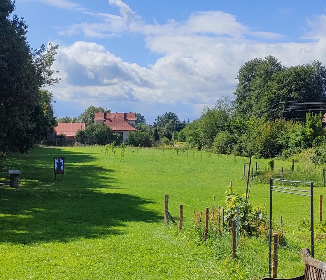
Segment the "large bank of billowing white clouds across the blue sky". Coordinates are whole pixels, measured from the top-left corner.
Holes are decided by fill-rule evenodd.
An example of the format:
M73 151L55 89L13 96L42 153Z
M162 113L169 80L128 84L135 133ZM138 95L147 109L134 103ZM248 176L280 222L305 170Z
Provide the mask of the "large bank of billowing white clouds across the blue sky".
M141 67L124 62L96 43L78 41L60 47L53 65L62 78L54 87L55 98L182 102L198 111L202 104L211 105L219 97L232 96L238 69L253 57L272 54L285 66L314 59L326 61L325 16L309 21L311 31L306 37L315 42L272 43L285 37L252 30L236 16L222 11L196 12L182 22L148 24L121 0L109 3L119 8L119 15L91 13L98 23L74 24L61 34L103 38L140 33L145 37L145 47L162 57L153 65Z

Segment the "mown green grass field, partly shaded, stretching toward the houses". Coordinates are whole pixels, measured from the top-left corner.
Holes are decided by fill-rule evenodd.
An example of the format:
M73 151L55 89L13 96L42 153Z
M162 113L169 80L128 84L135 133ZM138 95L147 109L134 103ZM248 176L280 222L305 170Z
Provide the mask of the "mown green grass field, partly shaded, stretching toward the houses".
M63 181L54 181L54 156L65 156ZM100 147L9 154L0 161L1 180L8 180L7 169L22 174L18 189L0 185L0 279L244 279L236 261L217 256L216 244L198 245L190 233L193 210L211 208L213 195L224 205L230 180L245 191L244 163L192 150L185 161L157 149L128 148L121 161L120 149L114 160ZM184 204L181 233L163 225L165 194L173 216ZM315 188L316 222L319 194L326 188ZM268 199L268 184L252 184L249 202L267 209ZM277 193L274 210L297 225L309 218L309 199Z

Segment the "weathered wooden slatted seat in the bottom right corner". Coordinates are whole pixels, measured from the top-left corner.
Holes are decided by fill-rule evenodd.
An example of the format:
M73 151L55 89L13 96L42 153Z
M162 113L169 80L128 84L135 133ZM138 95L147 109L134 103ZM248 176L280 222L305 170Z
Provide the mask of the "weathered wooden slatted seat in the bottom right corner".
M326 263L318 259L304 258L304 274L294 278L282 278L278 280L326 280ZM275 278L262 278L261 280L273 280Z

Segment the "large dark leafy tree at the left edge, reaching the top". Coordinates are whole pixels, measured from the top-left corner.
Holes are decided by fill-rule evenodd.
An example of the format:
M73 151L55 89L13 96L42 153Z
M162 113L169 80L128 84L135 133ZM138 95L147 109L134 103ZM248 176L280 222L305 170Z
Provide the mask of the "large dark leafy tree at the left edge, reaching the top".
M58 46L32 50L27 25L11 0L0 1L0 152L27 152L56 124L52 95L43 88L58 82L51 70Z

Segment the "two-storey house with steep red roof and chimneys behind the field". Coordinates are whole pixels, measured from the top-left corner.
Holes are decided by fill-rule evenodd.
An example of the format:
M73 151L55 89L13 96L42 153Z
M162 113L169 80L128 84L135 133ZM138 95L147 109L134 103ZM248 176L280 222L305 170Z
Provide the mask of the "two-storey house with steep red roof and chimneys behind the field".
M128 132L137 131L135 113L95 113L94 121L105 123L113 133L120 133L122 140L127 139Z

